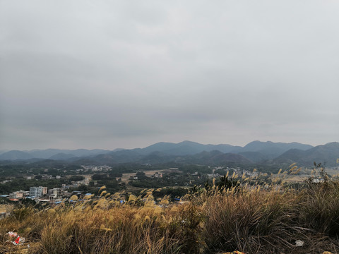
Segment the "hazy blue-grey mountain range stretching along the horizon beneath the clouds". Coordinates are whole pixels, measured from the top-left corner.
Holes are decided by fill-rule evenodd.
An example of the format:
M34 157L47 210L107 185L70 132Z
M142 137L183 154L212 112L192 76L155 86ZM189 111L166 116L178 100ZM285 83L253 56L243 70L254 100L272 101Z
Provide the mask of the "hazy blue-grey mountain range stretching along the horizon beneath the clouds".
M12 150L0 154L0 160L53 159L58 161L97 162L118 164L138 163L194 163L194 164L288 164L311 166L313 162L337 166L339 143L304 145L301 143L273 143L253 141L244 147L220 144L203 145L191 141L181 143L155 143L131 150Z

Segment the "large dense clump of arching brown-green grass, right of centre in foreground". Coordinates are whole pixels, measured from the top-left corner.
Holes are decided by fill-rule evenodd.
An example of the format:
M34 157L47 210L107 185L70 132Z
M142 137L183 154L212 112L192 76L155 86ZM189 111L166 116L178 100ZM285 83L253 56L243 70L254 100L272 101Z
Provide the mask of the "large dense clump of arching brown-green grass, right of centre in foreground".
M273 253L275 246L290 247L290 241L301 233L296 224L297 202L292 191L212 195L203 205L209 248L246 253L263 248Z

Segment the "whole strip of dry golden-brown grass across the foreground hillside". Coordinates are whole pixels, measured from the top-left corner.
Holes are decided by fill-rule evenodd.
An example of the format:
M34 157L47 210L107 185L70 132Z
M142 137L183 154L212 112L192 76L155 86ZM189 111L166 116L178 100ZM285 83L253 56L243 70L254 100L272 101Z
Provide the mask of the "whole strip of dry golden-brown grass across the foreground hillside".
M121 204L120 193L102 188L98 200L19 207L0 220L0 253L337 253L339 182L322 176L298 190L242 186L225 177L223 184L194 188L180 203L155 200L161 190L145 190ZM8 231L25 243L5 245Z

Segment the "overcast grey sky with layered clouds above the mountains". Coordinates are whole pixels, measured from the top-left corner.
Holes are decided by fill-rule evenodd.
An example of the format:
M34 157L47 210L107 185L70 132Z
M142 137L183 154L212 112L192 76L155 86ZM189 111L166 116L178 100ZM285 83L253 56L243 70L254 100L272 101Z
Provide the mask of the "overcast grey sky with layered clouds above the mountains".
M339 141L339 2L0 0L0 150Z

